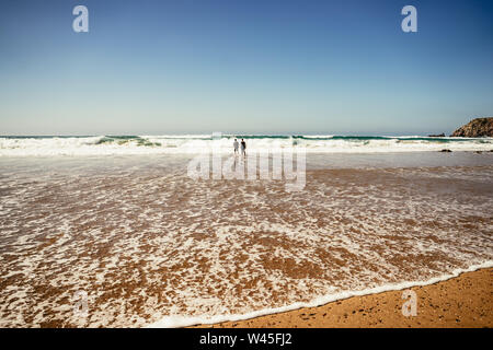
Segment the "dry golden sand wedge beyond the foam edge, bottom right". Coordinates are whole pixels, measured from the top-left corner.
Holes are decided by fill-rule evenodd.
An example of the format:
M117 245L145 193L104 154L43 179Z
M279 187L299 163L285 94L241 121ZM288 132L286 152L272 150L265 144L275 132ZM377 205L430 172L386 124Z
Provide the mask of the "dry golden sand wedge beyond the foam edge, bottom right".
M493 268L414 287L416 316L404 316L403 291L340 300L240 322L197 327L312 328L312 327L493 327Z

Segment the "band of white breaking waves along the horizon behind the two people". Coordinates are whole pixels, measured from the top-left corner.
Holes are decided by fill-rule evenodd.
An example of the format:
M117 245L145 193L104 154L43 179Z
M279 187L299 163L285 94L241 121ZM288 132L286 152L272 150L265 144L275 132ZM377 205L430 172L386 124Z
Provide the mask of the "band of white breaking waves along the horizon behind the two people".
M314 153L381 153L491 151L493 138L436 138L422 136L333 136L333 135L163 135L0 138L0 156L110 155L198 153L214 149L229 153L234 138L245 139L253 151L303 148Z

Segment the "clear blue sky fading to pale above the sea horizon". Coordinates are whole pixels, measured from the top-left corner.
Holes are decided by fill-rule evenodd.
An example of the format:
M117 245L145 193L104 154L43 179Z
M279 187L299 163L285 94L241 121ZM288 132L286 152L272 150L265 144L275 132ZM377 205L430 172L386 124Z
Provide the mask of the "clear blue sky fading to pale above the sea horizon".
M0 2L3 136L427 135L482 116L493 1Z

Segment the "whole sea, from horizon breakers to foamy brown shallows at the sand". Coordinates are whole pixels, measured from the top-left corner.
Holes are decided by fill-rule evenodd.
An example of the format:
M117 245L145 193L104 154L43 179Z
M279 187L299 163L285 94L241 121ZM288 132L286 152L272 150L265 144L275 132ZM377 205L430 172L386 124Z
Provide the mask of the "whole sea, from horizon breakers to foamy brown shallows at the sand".
M188 176L233 137L0 138L0 327L236 320L493 266L491 138L236 136L303 149L305 187Z

